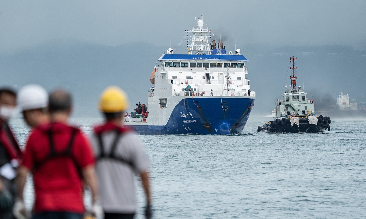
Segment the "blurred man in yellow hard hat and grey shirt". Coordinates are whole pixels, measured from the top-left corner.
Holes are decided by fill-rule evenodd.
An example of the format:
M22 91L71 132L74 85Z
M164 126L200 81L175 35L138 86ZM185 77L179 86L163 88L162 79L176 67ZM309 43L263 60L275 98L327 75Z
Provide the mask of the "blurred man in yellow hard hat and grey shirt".
M99 108L106 119L91 138L97 157L99 191L105 219L132 219L136 212L133 172L138 171L146 193L145 216L151 218L148 162L137 138L122 126L128 107L126 94L118 87L102 93Z

